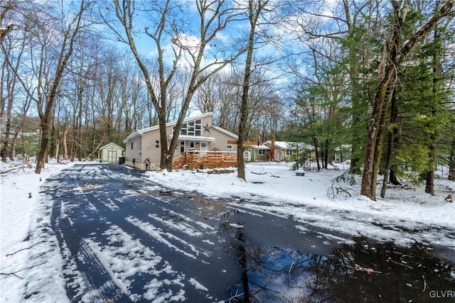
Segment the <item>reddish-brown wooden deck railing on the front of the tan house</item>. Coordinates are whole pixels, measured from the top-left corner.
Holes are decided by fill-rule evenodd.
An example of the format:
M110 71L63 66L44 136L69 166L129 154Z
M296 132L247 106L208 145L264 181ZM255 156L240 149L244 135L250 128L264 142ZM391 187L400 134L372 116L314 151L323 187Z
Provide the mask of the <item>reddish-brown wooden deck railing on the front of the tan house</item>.
M188 170L199 167L235 167L237 166L237 152L196 150L174 157L173 169L181 169L184 165L188 165Z

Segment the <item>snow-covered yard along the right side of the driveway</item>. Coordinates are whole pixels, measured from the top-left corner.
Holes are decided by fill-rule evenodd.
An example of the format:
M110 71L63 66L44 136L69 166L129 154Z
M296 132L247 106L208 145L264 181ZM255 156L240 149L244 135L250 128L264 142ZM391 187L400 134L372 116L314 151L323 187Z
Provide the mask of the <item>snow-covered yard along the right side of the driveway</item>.
M455 203L445 201L448 194L455 194L455 182L435 180L435 196L424 193L423 185L389 188L385 199L378 193L378 201L374 202L360 196L360 178L356 185L334 182L348 165L341 163L332 168L309 170L299 177L291 164L258 162L247 165L246 182L239 180L236 172L179 170L148 174L151 180L167 187L197 190L210 197L236 197L244 207L293 216L296 221L348 236L395 241L402 246L432 243L455 250Z

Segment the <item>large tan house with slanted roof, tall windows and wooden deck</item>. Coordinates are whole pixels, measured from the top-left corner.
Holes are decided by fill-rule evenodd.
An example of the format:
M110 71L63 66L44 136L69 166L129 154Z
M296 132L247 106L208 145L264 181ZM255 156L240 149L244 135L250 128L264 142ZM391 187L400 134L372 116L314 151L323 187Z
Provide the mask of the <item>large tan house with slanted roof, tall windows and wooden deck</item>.
M166 124L168 145L171 143L175 126L176 122ZM232 144L232 141L237 141L237 135L213 125L213 113L186 118L183 120L177 148L173 154L173 168L183 165L193 168L196 164L204 167L223 166L223 162L235 162L237 145ZM161 160L159 126L135 131L127 136L123 143L127 145L125 165L140 170L159 169Z

